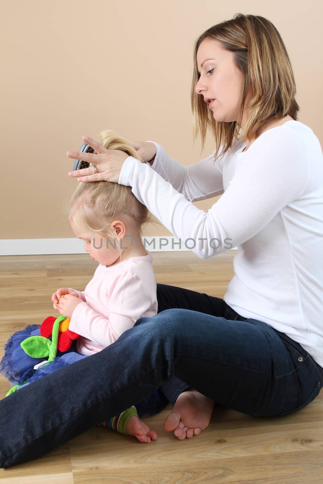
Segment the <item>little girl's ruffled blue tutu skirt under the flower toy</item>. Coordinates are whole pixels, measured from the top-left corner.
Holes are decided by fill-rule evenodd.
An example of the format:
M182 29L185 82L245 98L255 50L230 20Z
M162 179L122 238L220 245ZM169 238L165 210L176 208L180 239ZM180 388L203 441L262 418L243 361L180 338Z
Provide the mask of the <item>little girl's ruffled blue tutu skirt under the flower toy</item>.
M23 389L26 385L40 378L46 377L49 373L67 364L75 363L87 356L77 352L76 340L73 340L71 348L64 352L58 349L55 360L34 370L36 364L47 361L47 358L33 358L21 348L20 343L30 336L40 336L40 324L32 324L24 330L17 331L10 336L4 346L5 353L0 362L0 374L9 380L10 386L12 387L14 385L21 385L27 380L27 383L17 388L16 391ZM138 416L155 415L161 412L167 404L167 398L159 390L156 390L136 404Z

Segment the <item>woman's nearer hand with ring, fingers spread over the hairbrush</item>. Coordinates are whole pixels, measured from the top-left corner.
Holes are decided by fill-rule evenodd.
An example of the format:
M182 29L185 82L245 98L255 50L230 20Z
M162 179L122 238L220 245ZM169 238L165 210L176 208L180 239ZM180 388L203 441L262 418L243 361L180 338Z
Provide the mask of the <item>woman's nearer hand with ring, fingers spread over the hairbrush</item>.
M75 160L83 160L88 163L93 163L96 166L97 173L95 173L94 166L89 166L89 168L69 171L69 176L71 178L77 177L78 181L104 180L118 183L121 168L129 155L121 150L107 150L100 143L88 136L83 136L83 141L88 143L97 154L67 151L67 156L69 158L74 158Z

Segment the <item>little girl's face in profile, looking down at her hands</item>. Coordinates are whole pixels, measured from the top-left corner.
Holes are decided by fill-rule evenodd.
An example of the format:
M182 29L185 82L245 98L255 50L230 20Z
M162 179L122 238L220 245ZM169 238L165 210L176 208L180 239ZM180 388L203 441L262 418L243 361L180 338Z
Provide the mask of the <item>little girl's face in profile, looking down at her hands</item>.
M112 266L120 262L120 252L118 249L118 238L116 240L108 241L107 238L102 237L96 232L78 227L71 223L71 227L75 235L84 242L84 249L89 252L92 259L96 260L103 266ZM115 248L114 248L115 245Z

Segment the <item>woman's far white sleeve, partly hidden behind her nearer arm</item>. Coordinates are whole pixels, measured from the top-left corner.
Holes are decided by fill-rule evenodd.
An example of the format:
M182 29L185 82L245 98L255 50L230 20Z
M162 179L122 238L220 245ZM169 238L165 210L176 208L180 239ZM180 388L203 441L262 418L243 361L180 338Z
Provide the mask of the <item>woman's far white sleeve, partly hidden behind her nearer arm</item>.
M161 145L154 141L150 143L154 143L157 151L153 165L146 164L182 193L186 200L193 202L222 195L223 158L214 162L211 158L215 151L193 165L184 166L171 158Z

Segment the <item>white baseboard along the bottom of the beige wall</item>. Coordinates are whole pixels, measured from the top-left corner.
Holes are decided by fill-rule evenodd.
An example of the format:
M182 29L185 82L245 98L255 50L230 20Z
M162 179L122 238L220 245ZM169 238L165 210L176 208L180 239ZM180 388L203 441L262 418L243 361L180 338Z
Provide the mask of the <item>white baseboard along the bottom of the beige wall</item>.
M130 239L129 242L131 243ZM192 239L185 245L172 236L143 237L142 242L150 252L182 252L194 246ZM194 241L193 241L194 242ZM127 247L126 243L123 244ZM233 247L230 250L236 250ZM86 254L83 242L77 238L70 239L0 239L0 256L34 256L45 254Z

